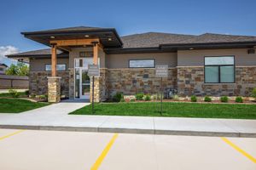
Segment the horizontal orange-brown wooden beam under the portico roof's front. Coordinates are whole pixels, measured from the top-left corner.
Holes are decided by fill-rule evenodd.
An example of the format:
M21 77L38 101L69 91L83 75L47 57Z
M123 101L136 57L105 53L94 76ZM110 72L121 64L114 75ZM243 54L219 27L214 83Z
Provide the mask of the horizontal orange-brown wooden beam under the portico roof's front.
M57 46L78 46L91 45L91 42L100 42L99 38L94 39L74 39L74 40L52 40L50 43L55 43Z

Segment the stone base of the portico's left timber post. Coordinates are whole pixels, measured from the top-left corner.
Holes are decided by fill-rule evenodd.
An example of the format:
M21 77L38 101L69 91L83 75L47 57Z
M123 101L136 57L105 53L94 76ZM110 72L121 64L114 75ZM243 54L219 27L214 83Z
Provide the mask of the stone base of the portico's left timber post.
M57 103L61 101L61 77L48 78L48 102Z

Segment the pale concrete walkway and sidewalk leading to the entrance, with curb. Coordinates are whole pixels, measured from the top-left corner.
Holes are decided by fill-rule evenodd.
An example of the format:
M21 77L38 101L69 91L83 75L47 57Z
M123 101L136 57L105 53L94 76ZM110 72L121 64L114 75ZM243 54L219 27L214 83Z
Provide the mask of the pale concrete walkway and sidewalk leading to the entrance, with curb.
M89 103L66 101L20 114L0 114L2 128L256 138L256 120L67 115Z

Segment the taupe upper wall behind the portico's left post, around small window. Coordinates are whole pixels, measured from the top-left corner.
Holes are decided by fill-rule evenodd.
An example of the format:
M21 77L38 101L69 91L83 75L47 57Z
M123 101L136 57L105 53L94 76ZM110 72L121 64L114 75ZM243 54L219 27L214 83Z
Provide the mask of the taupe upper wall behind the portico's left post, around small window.
M30 71L45 71L45 65L50 65L51 59L30 59ZM68 58L57 59L57 64L65 64L68 71Z

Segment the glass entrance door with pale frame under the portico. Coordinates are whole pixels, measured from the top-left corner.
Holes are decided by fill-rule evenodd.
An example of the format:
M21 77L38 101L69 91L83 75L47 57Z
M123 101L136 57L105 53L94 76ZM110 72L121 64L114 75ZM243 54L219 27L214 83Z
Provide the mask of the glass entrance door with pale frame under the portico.
M90 99L90 77L88 70L80 69L80 99Z

